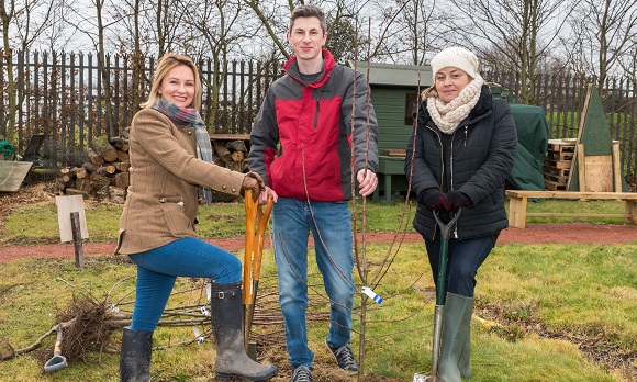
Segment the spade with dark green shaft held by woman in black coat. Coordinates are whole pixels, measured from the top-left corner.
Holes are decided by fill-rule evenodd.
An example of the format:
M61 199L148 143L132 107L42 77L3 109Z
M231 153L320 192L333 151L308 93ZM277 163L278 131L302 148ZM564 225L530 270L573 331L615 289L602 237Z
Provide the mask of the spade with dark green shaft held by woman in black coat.
M449 238L451 231L460 217L460 210L450 218L449 223L443 223L439 214L434 211L434 218L440 227L440 254L438 258L438 280L436 281L436 307L434 311L434 338L432 346L432 374L414 374L414 382L438 382L438 359L440 355L440 339L443 335L443 313L447 297L447 258L449 255Z

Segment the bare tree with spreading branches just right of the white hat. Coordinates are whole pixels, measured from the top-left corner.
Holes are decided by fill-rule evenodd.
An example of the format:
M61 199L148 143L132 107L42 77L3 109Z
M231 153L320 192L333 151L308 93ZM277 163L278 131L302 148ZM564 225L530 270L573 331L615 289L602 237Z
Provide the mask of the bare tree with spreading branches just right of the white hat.
M567 0L450 0L466 16L457 32L488 65L517 71L523 103L535 102L537 68L565 27Z

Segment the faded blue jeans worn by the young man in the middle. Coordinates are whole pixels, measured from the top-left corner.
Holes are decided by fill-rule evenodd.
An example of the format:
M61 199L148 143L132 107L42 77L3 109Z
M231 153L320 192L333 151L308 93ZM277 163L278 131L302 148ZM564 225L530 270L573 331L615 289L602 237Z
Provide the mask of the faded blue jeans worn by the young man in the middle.
M308 347L308 238L314 237L316 265L329 297L332 346L349 344L354 304L351 222L347 202L308 202L279 198L272 209L275 260L279 276L279 303L286 325L286 344L292 367L311 367ZM312 218L312 214L314 218Z

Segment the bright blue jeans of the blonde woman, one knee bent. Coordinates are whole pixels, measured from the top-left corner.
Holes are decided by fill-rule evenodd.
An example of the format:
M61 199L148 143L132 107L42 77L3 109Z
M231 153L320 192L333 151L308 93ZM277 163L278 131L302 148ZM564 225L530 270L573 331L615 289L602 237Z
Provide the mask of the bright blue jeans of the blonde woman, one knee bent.
M130 255L137 265L132 330L153 332L164 313L178 276L239 282L242 262L233 254L202 239L186 237L159 248Z

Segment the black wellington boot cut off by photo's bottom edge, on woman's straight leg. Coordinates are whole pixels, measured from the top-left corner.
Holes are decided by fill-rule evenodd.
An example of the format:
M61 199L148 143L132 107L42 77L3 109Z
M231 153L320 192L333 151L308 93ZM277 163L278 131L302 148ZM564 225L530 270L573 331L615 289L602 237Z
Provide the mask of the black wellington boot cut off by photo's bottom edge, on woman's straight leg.
M120 381L148 382L152 350L153 332L136 332L125 327L120 356Z

